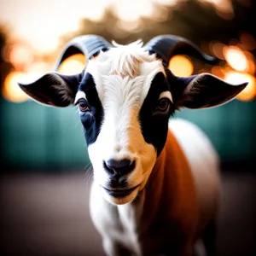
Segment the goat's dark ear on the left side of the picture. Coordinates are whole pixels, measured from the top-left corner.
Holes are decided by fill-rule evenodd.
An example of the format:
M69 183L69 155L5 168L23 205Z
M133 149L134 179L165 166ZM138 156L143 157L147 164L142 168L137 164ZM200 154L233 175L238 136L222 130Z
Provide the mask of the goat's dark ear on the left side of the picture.
M81 79L82 73L69 76L46 73L31 84L18 84L21 90L40 103L54 107L67 107L73 104Z

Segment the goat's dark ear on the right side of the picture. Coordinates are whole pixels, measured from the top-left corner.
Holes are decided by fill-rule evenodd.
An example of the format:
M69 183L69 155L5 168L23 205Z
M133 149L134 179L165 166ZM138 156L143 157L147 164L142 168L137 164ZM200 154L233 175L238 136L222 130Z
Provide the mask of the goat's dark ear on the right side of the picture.
M247 83L229 84L210 73L176 78L171 85L176 108L210 108L229 102Z

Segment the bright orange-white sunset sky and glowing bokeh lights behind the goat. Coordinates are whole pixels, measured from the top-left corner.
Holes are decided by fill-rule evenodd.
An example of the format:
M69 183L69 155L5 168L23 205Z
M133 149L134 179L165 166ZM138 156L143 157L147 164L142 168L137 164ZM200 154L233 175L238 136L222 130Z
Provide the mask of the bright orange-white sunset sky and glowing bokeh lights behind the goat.
M203 6L212 5L223 19L234 15L230 0L196 0ZM0 21L12 27L9 44L3 48L3 58L14 70L6 77L3 96L10 102L24 102L27 97L19 90L17 82L22 79L38 79L55 67L60 54L60 38L64 34L76 32L80 20L87 18L97 22L105 11L111 9L119 18L119 25L126 31L136 30L142 17L160 19L165 16L165 9L156 11L155 4L166 8L185 3L186 0L73 0L70 4L60 0L34 3L32 0L9 0L0 9ZM26 3L26 4L25 4ZM27 12L27 5L30 11ZM167 17L165 18L167 19ZM38 29L40 28L40 29ZM236 40L235 40L236 41ZM230 44L220 41L209 42L208 49L212 55L225 63L220 66L201 67L185 55L172 57L169 68L177 76L186 77L194 73L211 72L230 83L248 81L249 85L237 96L237 100L251 101L255 97L256 83L254 79L256 61L250 51L256 48L255 39L247 32L241 32L239 41L230 39ZM232 43L233 42L233 43ZM85 67L83 55L73 55L63 61L58 72L63 74L80 73Z

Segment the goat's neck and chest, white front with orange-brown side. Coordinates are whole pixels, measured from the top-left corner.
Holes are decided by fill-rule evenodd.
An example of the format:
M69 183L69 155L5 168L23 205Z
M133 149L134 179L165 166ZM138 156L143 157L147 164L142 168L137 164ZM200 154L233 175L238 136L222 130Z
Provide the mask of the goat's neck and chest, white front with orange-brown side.
M201 223L193 173L172 131L168 131L166 146L135 201L113 206L99 198L96 189L94 185L91 193L91 200L100 200L91 209L94 223L103 241L108 236L112 247L118 248L119 253L114 255L123 255L127 250L147 256L193 254L195 241L205 224ZM100 214L103 209L106 213L100 218L96 216L95 212ZM204 223L208 220L204 219ZM108 253L108 248L105 249Z

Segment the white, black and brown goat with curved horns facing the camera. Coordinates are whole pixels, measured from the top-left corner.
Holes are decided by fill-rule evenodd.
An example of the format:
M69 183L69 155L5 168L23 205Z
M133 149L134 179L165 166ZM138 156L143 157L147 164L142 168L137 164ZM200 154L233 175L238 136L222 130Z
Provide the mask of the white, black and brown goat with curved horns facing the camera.
M43 104L78 105L94 169L90 215L105 252L189 256L202 237L214 255L218 154L195 125L169 118L179 108L229 102L247 83L228 84L210 73L175 76L167 67L172 55L216 59L172 35L144 46L81 36L67 44L56 67L75 53L87 60L82 73L49 72L19 85Z

